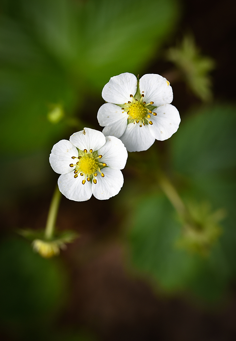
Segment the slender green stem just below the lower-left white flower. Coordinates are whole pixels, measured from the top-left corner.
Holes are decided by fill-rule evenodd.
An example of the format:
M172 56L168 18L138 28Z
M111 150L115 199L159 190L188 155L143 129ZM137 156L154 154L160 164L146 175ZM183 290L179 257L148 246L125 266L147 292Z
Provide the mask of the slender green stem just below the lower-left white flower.
M56 185L56 188L54 190L53 198L50 204L49 212L48 212L48 218L47 223L45 227L45 238L46 239L52 239L54 234L54 228L55 228L55 221L57 217L57 212L60 204L61 199L61 192L58 189L58 186Z

